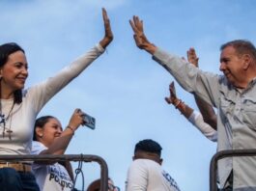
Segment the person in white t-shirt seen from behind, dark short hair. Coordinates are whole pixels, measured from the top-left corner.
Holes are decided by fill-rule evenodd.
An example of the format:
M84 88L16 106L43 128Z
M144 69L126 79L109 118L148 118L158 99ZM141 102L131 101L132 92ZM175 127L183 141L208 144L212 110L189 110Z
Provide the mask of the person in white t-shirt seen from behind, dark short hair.
M136 144L128 168L127 191L180 191L173 177L161 168L161 150L160 145L151 139Z

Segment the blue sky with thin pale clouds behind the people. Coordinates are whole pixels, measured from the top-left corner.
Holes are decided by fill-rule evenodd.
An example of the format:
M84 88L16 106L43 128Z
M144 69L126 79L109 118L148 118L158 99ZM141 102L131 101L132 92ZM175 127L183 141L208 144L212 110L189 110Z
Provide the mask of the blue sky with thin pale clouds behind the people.
M200 68L220 73L222 43L236 39L256 43L256 1L1 0L0 43L15 41L25 49L30 72L26 87L54 75L101 40L101 7L108 12L114 41L47 103L40 116L54 115L63 126L77 107L94 116L96 129L78 129L67 153L103 157L109 176L122 190L134 145L147 138L162 146L163 168L181 190L209 190L216 144L165 103L173 78L135 46L128 19L139 15L148 39L169 52L185 56L189 47L195 47ZM185 103L197 109L193 96L176 88ZM84 174L87 185L100 176L100 167L85 164Z

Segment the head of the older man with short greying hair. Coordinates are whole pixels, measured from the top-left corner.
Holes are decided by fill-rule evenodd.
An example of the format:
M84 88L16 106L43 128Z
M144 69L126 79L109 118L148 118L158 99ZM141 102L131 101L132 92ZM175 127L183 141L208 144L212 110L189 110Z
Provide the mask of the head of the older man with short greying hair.
M256 75L256 48L250 41L228 41L220 47L220 70L238 88L246 88Z

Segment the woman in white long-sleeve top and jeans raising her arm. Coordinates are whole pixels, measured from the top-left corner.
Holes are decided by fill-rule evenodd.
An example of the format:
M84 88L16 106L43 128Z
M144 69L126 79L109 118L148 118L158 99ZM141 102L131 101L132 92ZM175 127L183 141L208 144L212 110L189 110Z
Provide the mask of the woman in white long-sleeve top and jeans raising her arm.
M31 153L34 124L45 103L94 62L113 40L110 22L102 9L105 35L89 52L42 83L23 90L28 77L25 51L16 43L0 45L0 154ZM1 190L39 190L31 166L0 163Z

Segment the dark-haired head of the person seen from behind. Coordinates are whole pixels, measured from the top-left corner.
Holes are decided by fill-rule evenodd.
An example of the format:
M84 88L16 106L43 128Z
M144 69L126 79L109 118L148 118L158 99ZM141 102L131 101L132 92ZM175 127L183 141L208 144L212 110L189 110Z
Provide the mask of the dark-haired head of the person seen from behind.
M161 146L156 143L156 141L153 141L152 139L145 139L139 141L135 145L134 156L132 157L132 159L150 159L156 161L158 164L161 165L161 150Z

